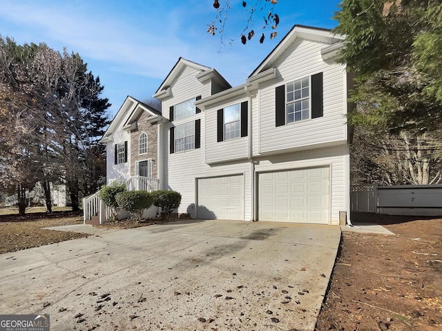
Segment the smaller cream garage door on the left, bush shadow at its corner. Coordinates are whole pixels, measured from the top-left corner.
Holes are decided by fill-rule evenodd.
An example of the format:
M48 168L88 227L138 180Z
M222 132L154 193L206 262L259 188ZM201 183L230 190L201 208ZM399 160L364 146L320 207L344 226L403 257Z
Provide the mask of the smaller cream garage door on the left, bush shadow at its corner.
M244 220L244 176L198 179L197 216Z

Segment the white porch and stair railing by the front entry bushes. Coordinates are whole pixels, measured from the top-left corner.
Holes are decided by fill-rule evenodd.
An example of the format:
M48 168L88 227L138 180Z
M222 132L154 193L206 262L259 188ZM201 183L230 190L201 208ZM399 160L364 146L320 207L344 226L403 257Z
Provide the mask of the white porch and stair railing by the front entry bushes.
M160 184L160 179L133 176L126 181L126 190L128 191L156 191ZM92 219L92 217L99 217L99 224L106 223L111 217L111 208L104 205L102 199L99 197L99 192L83 199L83 221Z

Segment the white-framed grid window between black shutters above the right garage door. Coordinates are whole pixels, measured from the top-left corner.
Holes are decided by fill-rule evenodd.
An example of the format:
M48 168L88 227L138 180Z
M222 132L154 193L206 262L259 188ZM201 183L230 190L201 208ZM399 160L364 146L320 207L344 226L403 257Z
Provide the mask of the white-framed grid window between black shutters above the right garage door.
M287 123L310 118L309 77L287 84Z

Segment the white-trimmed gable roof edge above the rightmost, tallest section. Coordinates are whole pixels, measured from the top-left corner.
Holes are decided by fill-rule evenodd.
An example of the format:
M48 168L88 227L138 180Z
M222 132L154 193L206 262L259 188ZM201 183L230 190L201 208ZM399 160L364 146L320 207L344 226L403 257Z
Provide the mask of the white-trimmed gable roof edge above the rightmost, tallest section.
M311 41L318 41L320 43L329 44L329 46L335 46L334 48L339 49L343 47L342 41L344 37L334 34L332 30L324 28L314 28L311 26L301 26L295 25L291 30L285 35L284 38L278 43L278 45L273 48L273 50L267 55L267 57L260 63L260 65L253 70L250 74L249 79L256 76L260 72L271 68L271 65L278 59L278 57L289 48L291 43L296 39L307 39ZM327 47L329 47L327 46ZM327 50L326 52L333 52L333 50Z

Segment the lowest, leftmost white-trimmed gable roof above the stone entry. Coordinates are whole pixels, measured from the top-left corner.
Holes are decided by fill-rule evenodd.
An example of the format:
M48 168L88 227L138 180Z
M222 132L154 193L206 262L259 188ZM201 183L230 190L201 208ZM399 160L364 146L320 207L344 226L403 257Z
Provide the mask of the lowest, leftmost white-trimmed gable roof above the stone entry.
M117 130L119 124L129 111L131 114L124 123L123 128L126 126L131 126L137 120L138 116L144 111L151 115L151 121L168 121L162 117L160 111L128 95L122 106L119 108L111 124L108 126L108 129L106 132L104 132L102 139L99 140L100 143L108 143L109 141L112 141L112 134Z

